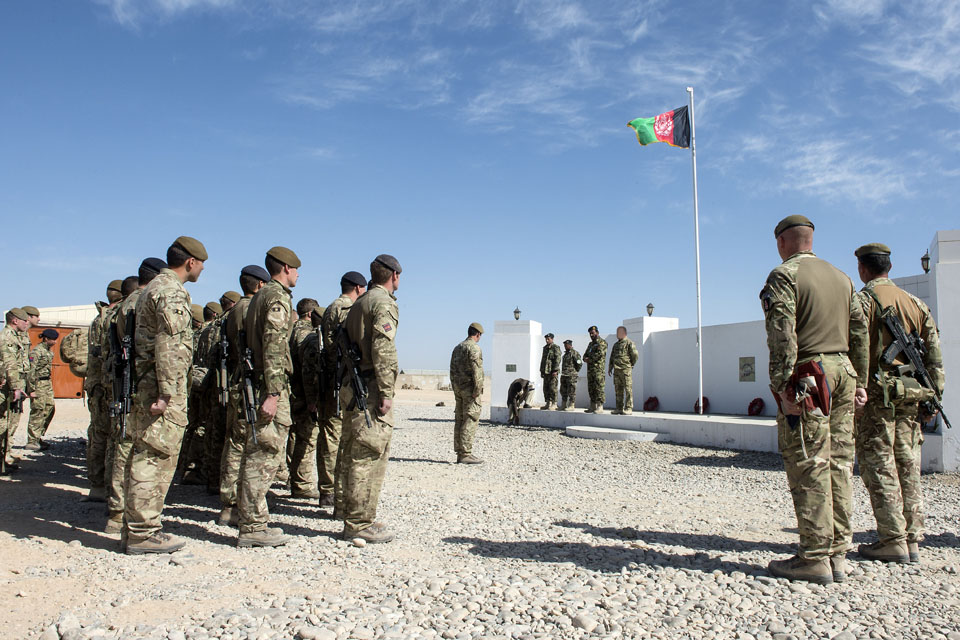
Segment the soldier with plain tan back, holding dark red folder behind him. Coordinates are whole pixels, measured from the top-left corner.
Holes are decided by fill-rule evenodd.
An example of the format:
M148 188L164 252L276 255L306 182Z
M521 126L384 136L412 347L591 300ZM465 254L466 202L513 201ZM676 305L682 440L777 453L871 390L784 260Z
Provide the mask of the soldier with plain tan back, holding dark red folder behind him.
M813 253L813 223L780 221L774 235L783 263L760 292L770 349L770 390L777 397L780 453L800 531L797 555L770 562L770 573L829 584L845 579L852 544L853 412L866 402L867 323L853 283ZM798 396L798 374L821 376L811 410ZM808 369L813 373L808 373Z

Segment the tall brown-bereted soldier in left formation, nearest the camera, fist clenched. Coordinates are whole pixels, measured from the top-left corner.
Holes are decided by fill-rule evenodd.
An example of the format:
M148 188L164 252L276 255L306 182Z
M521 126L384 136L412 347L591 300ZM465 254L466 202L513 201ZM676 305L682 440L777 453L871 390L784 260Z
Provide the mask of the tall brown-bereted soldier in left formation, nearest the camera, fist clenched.
M126 468L121 548L128 554L172 553L184 541L163 532L161 514L187 428L188 372L193 362L190 294L207 251L199 240L177 238L168 268L150 281L135 307L137 393L130 413L133 449Z

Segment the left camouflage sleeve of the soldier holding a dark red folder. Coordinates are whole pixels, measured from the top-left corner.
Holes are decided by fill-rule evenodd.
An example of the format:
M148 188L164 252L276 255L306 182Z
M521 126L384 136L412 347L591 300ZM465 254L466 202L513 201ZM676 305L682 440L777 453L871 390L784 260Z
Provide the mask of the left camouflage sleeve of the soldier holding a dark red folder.
M770 350L770 388L787 387L797 364L797 291L784 273L773 271L760 292Z

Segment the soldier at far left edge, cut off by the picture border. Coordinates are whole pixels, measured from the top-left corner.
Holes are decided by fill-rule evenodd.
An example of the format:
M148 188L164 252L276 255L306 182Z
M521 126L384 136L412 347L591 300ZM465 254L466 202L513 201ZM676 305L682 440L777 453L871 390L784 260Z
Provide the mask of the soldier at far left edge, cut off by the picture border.
M11 455L13 440L11 425L20 421L20 414L12 410L12 403L28 398L26 390L29 354L24 351L21 334L30 327L27 313L14 307L7 311L3 330L0 331L0 474L17 469L16 460Z

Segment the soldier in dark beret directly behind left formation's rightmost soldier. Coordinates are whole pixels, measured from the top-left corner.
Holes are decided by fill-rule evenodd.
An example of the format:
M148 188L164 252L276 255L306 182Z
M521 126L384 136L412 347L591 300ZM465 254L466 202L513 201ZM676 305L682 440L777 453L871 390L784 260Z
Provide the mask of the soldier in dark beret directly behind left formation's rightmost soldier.
M317 473L320 477L320 506L333 507L334 519L343 517L343 458L341 405L335 397L337 385L337 331L347 319L350 307L367 290L367 279L359 271L347 271L340 278L340 296L327 305L320 324L323 337L323 389L320 413L320 437L317 446Z

